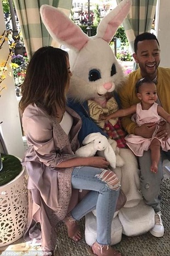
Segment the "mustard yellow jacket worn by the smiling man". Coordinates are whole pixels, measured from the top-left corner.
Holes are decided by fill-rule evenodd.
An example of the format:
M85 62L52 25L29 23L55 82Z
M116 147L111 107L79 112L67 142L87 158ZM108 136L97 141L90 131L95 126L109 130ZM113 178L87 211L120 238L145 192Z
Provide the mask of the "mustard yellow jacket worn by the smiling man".
M135 93L135 83L142 78L140 68L128 75L126 83L118 89L122 108L130 107L140 102ZM157 68L157 95L162 107L170 114L170 68ZM122 126L129 133L134 134L134 128L137 126L131 120L131 116L122 118Z

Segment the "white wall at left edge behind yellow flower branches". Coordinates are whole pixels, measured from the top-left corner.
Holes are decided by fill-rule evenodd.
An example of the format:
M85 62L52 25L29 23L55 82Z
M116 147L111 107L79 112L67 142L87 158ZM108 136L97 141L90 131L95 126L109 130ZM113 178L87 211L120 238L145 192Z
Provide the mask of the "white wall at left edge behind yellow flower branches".
M0 1L0 34L5 30L5 21L2 9L2 1ZM0 50L0 63L4 61L9 53L8 41L3 44ZM9 71L10 67L8 68ZM2 91L0 98L0 122L1 131L7 146L8 153L18 156L22 159L24 156L24 144L22 141L21 125L18 111L18 102L16 100L14 78L7 77L3 84L7 89Z

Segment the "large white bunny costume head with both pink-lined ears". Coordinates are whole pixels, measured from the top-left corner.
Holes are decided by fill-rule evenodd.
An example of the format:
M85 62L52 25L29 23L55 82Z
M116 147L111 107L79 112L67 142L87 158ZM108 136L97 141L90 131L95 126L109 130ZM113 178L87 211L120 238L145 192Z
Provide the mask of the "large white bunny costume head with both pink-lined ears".
M88 37L57 8L43 5L41 17L49 34L70 48L73 76L69 96L77 101L101 97L122 83L123 72L109 46L118 26L126 18L131 0L123 0L100 22L97 35Z

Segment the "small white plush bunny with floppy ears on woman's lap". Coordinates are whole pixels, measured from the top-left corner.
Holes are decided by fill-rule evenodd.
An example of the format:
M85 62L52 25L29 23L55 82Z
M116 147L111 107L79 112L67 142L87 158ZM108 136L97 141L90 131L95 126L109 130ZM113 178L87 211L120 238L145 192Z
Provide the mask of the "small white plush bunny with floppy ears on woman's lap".
M90 133L83 141L81 148L77 149L77 156L94 156L97 151L103 151L105 159L110 163L112 168L116 168L116 155L107 138L101 133Z

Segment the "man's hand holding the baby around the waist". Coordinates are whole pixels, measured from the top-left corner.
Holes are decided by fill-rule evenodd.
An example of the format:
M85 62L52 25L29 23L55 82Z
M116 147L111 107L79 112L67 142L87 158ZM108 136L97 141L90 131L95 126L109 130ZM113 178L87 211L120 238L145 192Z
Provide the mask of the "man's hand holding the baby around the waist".
M155 127L156 123L144 123L141 126L134 128L134 134L144 138L151 138L152 134L154 133Z

